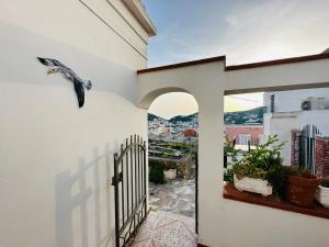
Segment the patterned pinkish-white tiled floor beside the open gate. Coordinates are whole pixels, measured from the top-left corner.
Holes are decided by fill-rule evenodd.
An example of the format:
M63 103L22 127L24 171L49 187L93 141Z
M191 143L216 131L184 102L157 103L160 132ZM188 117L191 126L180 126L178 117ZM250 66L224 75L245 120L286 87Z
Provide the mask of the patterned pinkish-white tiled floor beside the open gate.
M195 221L179 214L151 211L141 225L133 247L195 247Z

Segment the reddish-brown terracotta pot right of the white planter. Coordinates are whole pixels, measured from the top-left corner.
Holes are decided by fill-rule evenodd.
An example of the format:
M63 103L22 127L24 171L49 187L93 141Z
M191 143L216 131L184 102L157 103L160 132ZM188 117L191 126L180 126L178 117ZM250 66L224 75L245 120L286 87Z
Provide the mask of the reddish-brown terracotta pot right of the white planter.
M315 193L320 184L320 179L288 176L286 187L286 199L297 205L311 207Z

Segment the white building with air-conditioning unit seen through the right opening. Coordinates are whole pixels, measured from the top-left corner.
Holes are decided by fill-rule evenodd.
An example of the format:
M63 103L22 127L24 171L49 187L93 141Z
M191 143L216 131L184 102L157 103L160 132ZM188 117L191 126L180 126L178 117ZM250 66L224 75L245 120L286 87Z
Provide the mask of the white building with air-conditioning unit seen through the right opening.
M264 93L264 134L276 134L287 144L282 156L291 164L292 130L316 126L322 136L329 136L329 89L304 89Z

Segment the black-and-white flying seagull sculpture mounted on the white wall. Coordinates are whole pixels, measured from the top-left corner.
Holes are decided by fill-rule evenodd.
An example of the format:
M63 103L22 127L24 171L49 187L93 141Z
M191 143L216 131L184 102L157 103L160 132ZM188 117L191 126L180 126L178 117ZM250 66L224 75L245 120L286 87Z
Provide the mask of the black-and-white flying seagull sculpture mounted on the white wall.
M78 75L64 64L61 64L59 60L53 59L53 58L43 58L43 57L37 57L37 59L45 66L48 66L48 71L47 74L54 74L54 72L61 72L61 75L70 80L76 90L76 94L78 98L78 103L79 108L82 108L84 104L84 89L90 90L92 87L92 83L90 80L83 80Z

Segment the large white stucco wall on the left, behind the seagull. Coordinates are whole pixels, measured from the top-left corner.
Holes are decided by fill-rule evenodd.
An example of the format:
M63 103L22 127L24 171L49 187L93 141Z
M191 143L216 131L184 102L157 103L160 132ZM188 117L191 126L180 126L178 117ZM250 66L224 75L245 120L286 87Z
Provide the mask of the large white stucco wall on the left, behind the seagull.
M135 105L147 36L128 11L139 35L106 1L86 2L114 30L78 0L1 1L1 247L113 246L113 151L132 133L147 136ZM82 109L36 56L92 80Z

